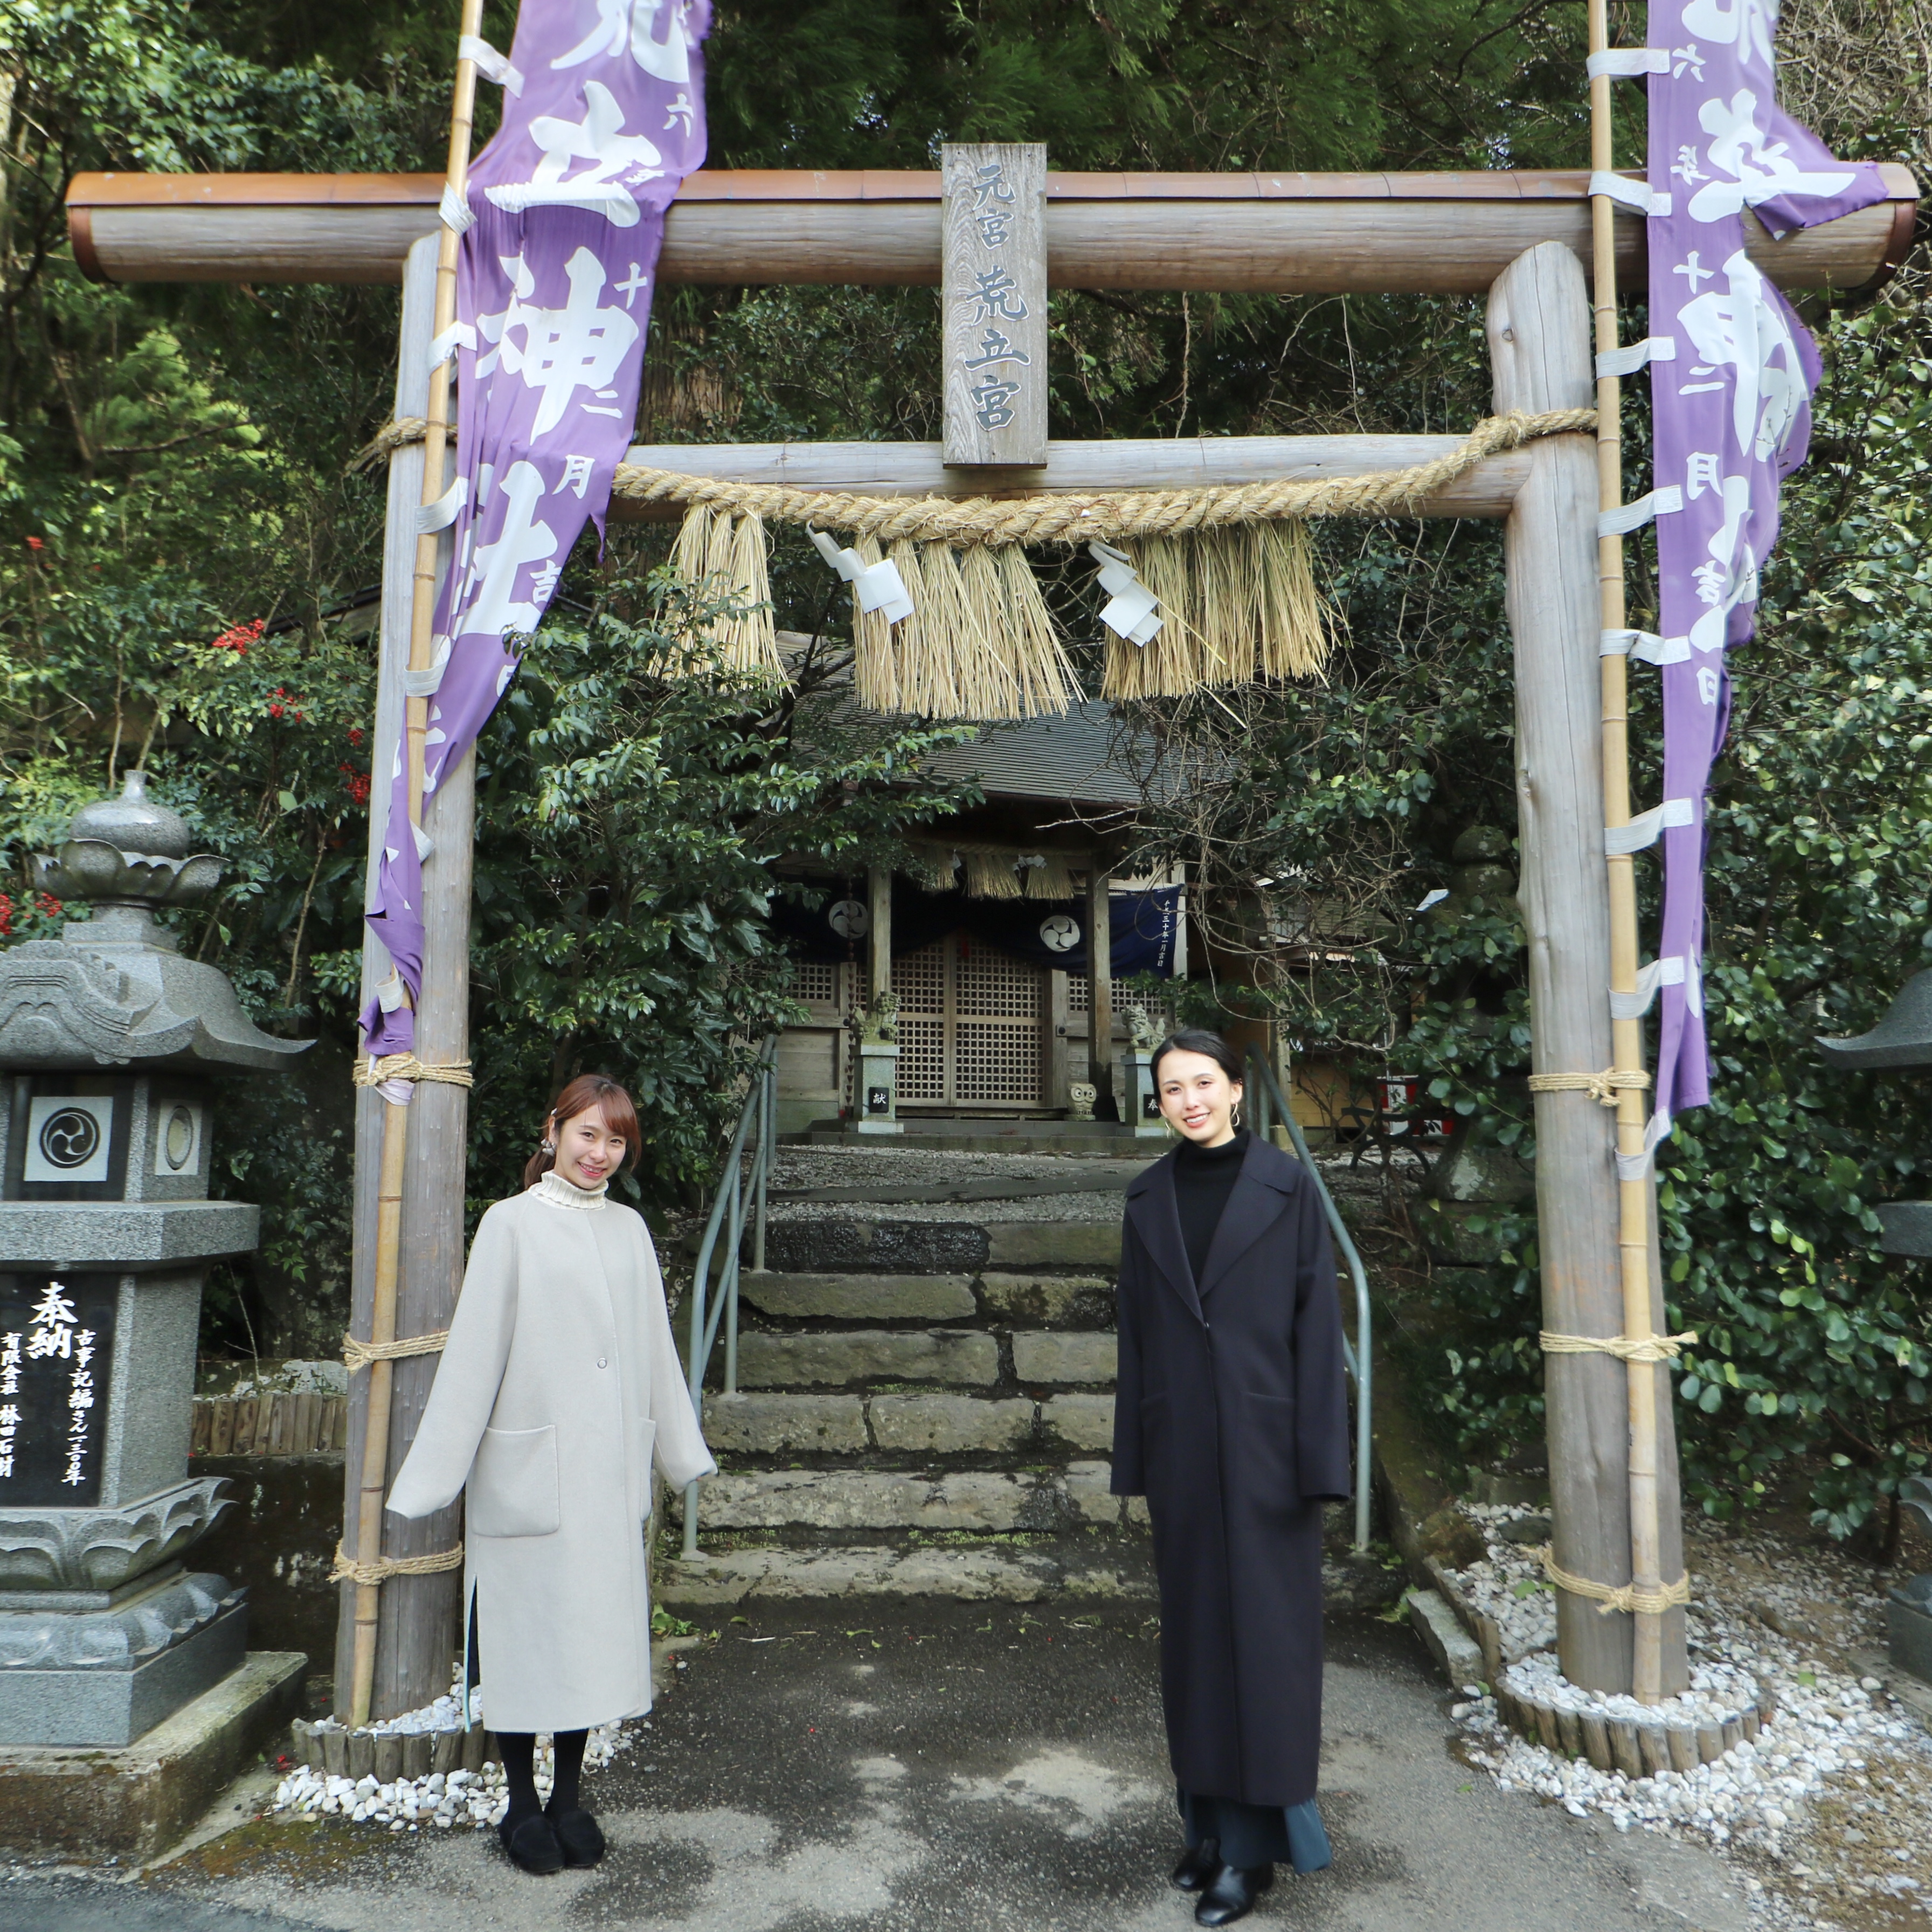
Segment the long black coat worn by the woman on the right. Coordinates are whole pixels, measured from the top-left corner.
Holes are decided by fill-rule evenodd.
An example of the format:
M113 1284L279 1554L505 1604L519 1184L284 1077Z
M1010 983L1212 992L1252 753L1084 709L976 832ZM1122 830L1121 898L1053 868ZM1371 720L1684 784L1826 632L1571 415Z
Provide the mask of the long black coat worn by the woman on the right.
M1256 1138L1200 1283L1175 1157L1126 1190L1113 1488L1146 1495L1161 1696L1182 1789L1316 1793L1321 1503L1349 1495L1341 1306L1321 1198Z

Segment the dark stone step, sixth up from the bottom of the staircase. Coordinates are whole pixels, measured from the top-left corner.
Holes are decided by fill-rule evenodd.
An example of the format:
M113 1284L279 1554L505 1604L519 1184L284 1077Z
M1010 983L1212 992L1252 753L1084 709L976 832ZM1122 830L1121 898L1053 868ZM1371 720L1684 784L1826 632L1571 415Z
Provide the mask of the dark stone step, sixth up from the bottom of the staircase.
M696 1256L697 1240L686 1244ZM983 1269L1121 1265L1119 1221L893 1221L869 1215L773 1215L767 1265L781 1273L966 1275Z

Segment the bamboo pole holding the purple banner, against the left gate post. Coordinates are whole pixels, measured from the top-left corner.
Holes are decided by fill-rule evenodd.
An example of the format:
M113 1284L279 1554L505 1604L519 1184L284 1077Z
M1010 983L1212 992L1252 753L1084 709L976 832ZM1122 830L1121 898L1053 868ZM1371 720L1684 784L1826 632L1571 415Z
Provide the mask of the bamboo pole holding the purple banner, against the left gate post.
M464 0L462 27L466 37L477 37L483 27L483 0ZM473 60L456 62L456 99L450 110L448 185L462 201L469 182L469 137L475 124L477 70ZM437 315L440 336L456 321L456 257L462 238L444 226L437 240ZM423 502L442 495L442 471L448 458L450 431L450 371L454 355L446 355L429 375L429 408L423 433ZM410 607L410 668L427 670L433 659L433 626L437 607L437 533L415 539L413 599ZM423 823L423 752L429 734L429 699L406 699L404 746L410 775L412 835ZM410 1148L408 1105L384 1103L383 1109L383 1167L377 1188L375 1233L375 1300L369 1320L369 1339L396 1339L396 1277L402 1260L402 1173ZM388 1410L394 1389L390 1362L369 1364L369 1408L363 1428L361 1492L355 1513L355 1553L373 1561L383 1553L383 1495L388 1488ZM369 1721L369 1696L375 1689L377 1619L381 1613L381 1584L355 1586L355 1650L350 1689L350 1723Z

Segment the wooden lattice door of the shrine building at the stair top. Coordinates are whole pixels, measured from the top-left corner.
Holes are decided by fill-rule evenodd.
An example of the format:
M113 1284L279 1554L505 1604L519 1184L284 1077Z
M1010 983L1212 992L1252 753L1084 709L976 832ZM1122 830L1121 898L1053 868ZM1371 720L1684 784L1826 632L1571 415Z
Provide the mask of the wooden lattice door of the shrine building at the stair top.
M1043 1105L1045 972L978 939L893 960L902 1107Z

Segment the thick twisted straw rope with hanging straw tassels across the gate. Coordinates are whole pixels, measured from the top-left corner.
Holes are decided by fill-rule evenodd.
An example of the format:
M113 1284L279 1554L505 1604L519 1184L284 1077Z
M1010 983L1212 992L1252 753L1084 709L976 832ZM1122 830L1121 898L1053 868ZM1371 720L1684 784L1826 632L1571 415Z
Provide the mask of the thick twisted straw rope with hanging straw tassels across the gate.
M1105 697L1182 697L1254 678L1318 678L1331 647L1308 533L1314 516L1403 516L1490 456L1596 427L1594 410L1511 412L1480 421L1443 456L1406 469L1194 489L1034 497L862 497L786 483L732 483L618 464L612 497L688 504L676 562L726 665L782 676L773 634L765 527L850 531L862 562L889 560L912 601L893 624L854 611L854 686L871 711L931 719L1063 713L1080 684L1026 545L1121 547L1159 599L1146 645L1107 634ZM357 462L412 440L398 419Z

